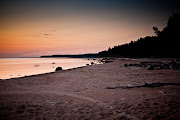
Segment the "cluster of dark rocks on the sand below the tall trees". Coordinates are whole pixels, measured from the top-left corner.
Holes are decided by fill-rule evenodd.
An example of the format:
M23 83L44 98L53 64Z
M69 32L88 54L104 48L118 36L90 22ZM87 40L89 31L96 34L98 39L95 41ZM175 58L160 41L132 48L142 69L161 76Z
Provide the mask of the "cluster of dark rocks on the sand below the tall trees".
M144 67L147 70L160 70L160 69L180 69L180 64L175 61L171 61L170 63L153 63L153 62L141 62L140 64L124 64L124 67Z

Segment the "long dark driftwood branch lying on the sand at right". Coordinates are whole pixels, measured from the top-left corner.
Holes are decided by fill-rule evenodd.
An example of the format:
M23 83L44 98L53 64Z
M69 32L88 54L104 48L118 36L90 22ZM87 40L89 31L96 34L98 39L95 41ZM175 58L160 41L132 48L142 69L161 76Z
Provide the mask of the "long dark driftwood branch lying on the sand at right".
M141 88L141 87L161 87L165 85L173 85L173 86L180 86L180 83L145 83L144 85L137 85L137 86L120 86L120 84L117 84L115 87L107 87L107 89L117 89L117 88L122 88L122 89L128 89L128 88Z

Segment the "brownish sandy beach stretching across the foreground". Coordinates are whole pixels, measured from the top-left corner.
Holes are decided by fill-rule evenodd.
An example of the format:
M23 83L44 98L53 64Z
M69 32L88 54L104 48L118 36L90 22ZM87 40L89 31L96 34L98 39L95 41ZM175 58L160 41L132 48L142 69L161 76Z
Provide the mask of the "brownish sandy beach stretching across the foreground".
M106 89L117 83L180 83L179 70L124 67L125 63L142 60L116 59L112 63L1 80L0 120L180 119L179 86Z

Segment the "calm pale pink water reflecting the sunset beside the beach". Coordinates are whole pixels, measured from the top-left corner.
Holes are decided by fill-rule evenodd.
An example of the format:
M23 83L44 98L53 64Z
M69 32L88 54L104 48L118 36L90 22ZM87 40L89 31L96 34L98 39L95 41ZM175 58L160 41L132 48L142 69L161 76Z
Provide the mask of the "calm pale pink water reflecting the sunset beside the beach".
M58 66L66 70L92 61L84 58L0 58L0 79L53 72Z

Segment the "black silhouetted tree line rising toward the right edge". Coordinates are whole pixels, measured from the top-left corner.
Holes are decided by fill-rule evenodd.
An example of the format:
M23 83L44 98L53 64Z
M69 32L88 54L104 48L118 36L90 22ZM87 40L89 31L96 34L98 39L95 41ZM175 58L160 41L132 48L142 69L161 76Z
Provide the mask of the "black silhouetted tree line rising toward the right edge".
M180 57L180 13L169 17L162 31L153 27L155 36L114 46L99 52L100 57Z

